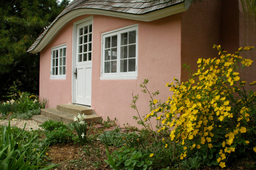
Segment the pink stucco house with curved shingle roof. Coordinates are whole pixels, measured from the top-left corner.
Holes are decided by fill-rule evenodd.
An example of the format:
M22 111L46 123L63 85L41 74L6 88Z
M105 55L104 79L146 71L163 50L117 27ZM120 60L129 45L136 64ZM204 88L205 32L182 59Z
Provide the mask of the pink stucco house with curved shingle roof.
M40 52L39 95L49 100L46 107L87 105L103 119L136 125L132 92L140 94L139 111L148 113L149 98L139 87L145 78L164 100L166 82L188 78L183 63L197 70L199 57L216 56L213 44L230 53L256 46L255 18L240 0L159 2L72 1L28 49ZM244 74L256 79L255 64L248 69Z

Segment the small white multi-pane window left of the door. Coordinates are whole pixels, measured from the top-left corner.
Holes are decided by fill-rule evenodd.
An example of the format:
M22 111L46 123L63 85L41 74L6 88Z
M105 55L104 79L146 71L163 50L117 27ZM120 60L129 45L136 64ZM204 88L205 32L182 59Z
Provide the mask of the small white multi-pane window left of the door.
M51 78L66 78L67 45L52 48L51 51Z

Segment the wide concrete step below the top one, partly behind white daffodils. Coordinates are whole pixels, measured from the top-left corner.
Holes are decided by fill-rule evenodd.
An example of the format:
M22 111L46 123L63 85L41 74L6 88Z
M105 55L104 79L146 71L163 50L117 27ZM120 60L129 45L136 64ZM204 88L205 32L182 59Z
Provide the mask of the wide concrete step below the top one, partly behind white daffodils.
M41 109L41 115L47 117L48 119L69 123L69 122L73 122L74 116L78 114L75 115L75 114L66 113L66 112L57 110L57 108L45 108L45 109ZM86 115L85 122L99 123L100 119L101 119L101 116L98 116L96 114Z

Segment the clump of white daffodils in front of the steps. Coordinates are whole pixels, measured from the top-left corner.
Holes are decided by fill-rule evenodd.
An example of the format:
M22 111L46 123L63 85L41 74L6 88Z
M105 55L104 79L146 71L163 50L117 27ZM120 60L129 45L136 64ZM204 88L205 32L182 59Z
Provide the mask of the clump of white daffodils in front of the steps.
M88 143L88 141L89 141L88 136L89 136L89 133L90 133L90 130L92 127L92 122L91 122L90 128L87 132L87 129L86 129L87 123L84 122L85 116L86 115L84 115L84 114L83 115L78 114L77 117L74 116L75 118L74 118L74 123L73 123L81 145Z

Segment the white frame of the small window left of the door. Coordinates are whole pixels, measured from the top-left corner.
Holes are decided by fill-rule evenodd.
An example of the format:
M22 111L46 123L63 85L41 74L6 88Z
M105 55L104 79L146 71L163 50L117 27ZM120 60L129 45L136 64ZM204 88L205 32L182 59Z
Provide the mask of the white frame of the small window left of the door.
M52 75L52 54L53 54L53 51L55 50L58 50L58 54L60 54L60 49L63 49L63 48L66 48L66 61L65 61L65 74L61 74L60 75L60 67L64 66L64 65L61 65L60 66L60 55L58 56L58 75ZM53 47L51 48L51 67L50 67L50 76L51 78L50 79L66 79L66 74L67 74L67 44L62 44L62 45L59 45L57 47Z

